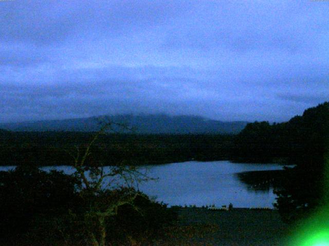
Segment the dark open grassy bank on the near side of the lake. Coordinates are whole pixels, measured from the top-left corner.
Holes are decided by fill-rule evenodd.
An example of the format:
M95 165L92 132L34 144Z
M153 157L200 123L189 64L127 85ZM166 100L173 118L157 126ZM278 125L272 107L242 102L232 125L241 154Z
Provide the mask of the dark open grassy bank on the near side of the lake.
M276 210L182 208L154 245L285 245L288 227Z

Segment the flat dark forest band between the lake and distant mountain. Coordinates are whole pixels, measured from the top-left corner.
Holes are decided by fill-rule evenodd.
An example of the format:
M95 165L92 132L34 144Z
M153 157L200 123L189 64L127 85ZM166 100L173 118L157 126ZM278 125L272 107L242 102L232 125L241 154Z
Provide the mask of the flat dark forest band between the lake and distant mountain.
M86 146L94 132L0 133L0 165L72 165L69 152ZM228 159L231 135L136 135L106 134L91 149L88 165L158 164L195 160Z

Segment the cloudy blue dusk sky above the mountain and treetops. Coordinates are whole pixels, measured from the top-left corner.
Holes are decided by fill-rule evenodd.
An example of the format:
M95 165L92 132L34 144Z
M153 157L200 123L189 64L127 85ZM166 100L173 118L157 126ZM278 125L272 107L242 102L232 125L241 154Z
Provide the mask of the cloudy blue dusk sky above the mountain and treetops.
M0 1L0 122L286 121L329 100L329 1Z

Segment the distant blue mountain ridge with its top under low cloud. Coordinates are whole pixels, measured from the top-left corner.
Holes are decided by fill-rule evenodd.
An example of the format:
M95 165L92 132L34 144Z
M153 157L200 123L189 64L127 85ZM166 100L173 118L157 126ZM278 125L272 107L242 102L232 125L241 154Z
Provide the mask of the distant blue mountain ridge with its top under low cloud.
M242 131L247 121L220 121L193 115L170 116L166 114L113 115L73 118L62 120L39 120L0 124L10 131L98 131L99 120L108 117L117 123L127 124L140 134L235 134Z

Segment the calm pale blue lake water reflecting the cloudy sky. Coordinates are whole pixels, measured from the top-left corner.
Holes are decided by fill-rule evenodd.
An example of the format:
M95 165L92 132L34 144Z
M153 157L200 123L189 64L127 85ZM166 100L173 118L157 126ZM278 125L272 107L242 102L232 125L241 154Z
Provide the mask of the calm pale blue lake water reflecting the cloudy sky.
M0 171L14 167L0 167ZM203 206L227 205L231 202L236 208L269 207L273 208L275 194L273 188L257 191L248 187L237 173L247 171L281 170L277 164L232 163L230 161L187 161L156 166L143 166L148 176L158 178L142 183L139 188L144 193L155 196L158 201L169 206L195 204ZM70 166L45 167L44 170L57 169L72 173Z

